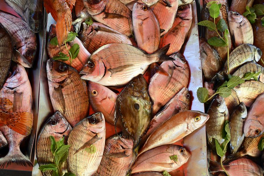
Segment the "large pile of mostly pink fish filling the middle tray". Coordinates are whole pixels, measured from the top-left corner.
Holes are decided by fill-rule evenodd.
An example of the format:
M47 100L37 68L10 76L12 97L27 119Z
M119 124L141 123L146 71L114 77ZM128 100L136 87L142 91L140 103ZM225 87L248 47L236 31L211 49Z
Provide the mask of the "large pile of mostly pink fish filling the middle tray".
M53 163L50 136L65 137L62 172L76 176L163 175L188 161L188 149L174 143L209 119L190 110L190 71L180 54L192 24L189 3L44 0L57 21L46 47L55 113L38 134L40 166ZM72 58L76 45L75 59L57 59Z

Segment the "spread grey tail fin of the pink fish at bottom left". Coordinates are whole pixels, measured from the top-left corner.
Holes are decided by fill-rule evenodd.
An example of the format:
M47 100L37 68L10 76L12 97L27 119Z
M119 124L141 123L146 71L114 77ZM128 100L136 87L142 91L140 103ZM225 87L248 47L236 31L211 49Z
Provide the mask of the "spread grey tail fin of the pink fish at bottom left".
M4 167L7 168L7 166L9 166L11 163L16 163L25 167L33 167L31 161L25 155L23 155L20 150L12 150L9 148L7 155L0 160L0 169L4 169Z

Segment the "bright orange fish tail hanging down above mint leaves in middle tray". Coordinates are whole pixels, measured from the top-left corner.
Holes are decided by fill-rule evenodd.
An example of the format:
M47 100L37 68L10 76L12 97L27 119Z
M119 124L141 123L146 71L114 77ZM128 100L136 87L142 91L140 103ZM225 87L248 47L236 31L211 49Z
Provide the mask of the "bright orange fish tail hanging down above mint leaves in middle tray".
M59 47L61 47L62 43L65 41L68 36L69 31L72 26L72 13L70 9L65 9L62 12L62 15L58 18L56 24L56 35L59 43Z

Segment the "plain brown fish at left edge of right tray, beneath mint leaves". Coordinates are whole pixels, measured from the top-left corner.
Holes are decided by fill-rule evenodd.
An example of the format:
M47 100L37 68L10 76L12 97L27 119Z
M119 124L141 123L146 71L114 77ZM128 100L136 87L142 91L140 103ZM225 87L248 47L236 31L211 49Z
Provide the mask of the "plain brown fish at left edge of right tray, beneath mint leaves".
M199 43L204 79L205 81L211 81L216 73L221 71L224 63L218 52L204 38L200 38Z

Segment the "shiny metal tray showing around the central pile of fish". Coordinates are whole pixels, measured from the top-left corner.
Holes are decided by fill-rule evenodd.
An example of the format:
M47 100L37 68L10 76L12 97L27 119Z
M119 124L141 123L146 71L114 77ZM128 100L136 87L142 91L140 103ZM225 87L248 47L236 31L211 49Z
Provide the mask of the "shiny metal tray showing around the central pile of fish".
M190 68L190 81L189 81L189 91L193 97L191 109L199 110L204 112L204 105L199 102L196 96L196 91L199 87L203 86L202 83L202 69L201 69L201 59L199 51L199 37L197 28L197 8L195 1L192 2L192 26L187 35L185 44L182 46L181 53L184 54L186 60L188 61ZM46 30L48 32L51 24L56 23L52 16L48 15L48 22ZM45 46L45 43L43 43ZM46 72L46 63L48 60L48 54L46 49L44 49L41 70L40 70L40 94L39 94L39 109L38 109L38 133L44 124L45 120L48 119L53 114L53 107L51 105L49 90L48 90L48 79ZM93 113L90 107L90 114ZM106 138L114 134L114 126L106 125L107 132ZM36 138L37 139L37 138ZM194 176L194 175L207 175L207 155L206 155L206 134L205 127L201 127L194 131L192 134L186 136L182 141L177 142L177 144L185 146L192 154L188 162L181 168L170 172L172 176ZM199 163L199 164L198 164ZM38 164L35 163L33 168L33 176L41 176L40 170L38 170Z

